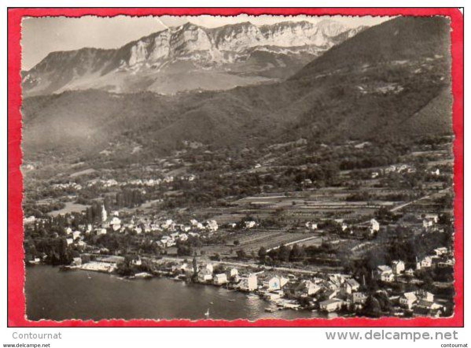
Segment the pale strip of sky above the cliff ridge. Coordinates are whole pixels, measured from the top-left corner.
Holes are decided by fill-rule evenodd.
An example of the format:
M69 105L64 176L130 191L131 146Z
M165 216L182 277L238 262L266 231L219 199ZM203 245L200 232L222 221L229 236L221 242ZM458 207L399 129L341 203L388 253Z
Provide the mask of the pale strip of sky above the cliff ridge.
M143 36L187 22L205 27L252 22L254 25L284 21L316 23L328 16L146 16L146 17L29 17L22 22L22 68L29 70L53 51L77 50L83 47L118 48ZM330 17L345 26L377 25L389 17Z

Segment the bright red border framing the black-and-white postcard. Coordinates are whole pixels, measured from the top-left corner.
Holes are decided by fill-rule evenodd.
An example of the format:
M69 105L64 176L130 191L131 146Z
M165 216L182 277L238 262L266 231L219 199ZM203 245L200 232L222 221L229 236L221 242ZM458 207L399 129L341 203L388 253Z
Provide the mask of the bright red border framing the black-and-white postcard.
M350 16L447 16L451 19L453 130L455 132L455 314L450 318L335 318L335 319L260 319L247 320L65 320L39 322L25 319L23 178L21 164L21 19L24 16L83 15L350 15ZM148 326L279 326L279 327L460 327L463 311L463 14L457 8L8 8L8 326L10 327L148 327Z

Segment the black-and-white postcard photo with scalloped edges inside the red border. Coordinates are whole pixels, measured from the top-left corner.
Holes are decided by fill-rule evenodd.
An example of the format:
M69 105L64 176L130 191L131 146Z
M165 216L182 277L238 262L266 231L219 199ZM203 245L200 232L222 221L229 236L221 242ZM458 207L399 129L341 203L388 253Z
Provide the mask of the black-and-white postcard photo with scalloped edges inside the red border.
M24 17L26 319L452 317L450 23Z

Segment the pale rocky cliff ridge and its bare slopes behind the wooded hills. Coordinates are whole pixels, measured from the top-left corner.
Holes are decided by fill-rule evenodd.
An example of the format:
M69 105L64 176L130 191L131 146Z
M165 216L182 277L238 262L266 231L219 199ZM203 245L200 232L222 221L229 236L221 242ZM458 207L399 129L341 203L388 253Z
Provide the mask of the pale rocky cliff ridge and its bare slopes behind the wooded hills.
M187 23L116 50L52 52L24 73L24 94L224 90L283 79L363 28L324 20L204 28Z

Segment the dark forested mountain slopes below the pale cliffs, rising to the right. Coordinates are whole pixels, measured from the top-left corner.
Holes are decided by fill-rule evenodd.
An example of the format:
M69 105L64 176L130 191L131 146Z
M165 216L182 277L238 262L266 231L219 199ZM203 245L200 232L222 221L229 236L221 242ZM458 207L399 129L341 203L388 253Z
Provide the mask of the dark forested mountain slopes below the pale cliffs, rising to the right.
M214 37L226 38L218 30ZM387 144L450 135L450 60L446 17L398 17L275 83L175 95L88 89L32 96L23 101L24 153L98 156L106 150L129 159L137 157L136 146L143 149L139 156L154 157L184 141L217 148L300 137ZM104 61L110 60L89 60L92 66ZM62 69L54 66L50 74Z

